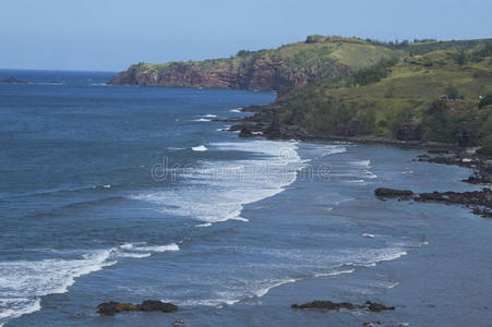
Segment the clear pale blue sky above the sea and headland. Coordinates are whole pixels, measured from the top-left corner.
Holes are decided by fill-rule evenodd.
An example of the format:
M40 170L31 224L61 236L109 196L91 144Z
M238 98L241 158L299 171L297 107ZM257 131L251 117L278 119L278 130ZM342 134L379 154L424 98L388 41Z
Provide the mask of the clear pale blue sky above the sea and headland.
M0 0L0 69L121 71L307 35L492 38L490 0Z

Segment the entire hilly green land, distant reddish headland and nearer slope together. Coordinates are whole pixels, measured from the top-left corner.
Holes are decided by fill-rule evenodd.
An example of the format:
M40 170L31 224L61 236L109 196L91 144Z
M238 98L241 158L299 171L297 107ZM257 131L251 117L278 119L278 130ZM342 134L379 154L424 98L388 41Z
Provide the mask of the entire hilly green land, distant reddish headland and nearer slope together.
M311 35L227 59L139 63L113 84L278 90L254 108L273 138L376 136L492 154L492 39L382 43ZM241 135L248 135L251 126Z

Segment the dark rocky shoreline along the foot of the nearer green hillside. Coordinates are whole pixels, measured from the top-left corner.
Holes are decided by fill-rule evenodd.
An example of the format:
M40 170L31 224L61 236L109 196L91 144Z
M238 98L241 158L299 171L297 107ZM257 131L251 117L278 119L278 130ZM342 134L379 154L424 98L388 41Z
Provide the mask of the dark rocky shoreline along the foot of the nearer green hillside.
M278 102L276 102L278 104ZM423 142L405 141L396 138L367 136L326 136L307 132L299 125L280 123L275 113L275 104L266 107L251 106L242 109L243 112L253 112L247 118L230 118L219 120L223 122L236 122L228 131L239 131L240 137L262 136L268 140L299 140L304 142L327 142L345 141L363 144L386 144L403 148L427 149L429 154L436 154L435 157L429 155L419 156L416 160L422 162L433 162L442 165L454 165L472 169L472 174L464 180L471 184L492 185L492 159L477 154L477 148L465 148L457 145ZM476 192L432 192L415 194L409 190L377 189L375 195L381 198L398 198L399 201L416 201L422 203L443 203L447 205L465 205L472 208L475 215L481 217L492 217L492 191L484 187Z

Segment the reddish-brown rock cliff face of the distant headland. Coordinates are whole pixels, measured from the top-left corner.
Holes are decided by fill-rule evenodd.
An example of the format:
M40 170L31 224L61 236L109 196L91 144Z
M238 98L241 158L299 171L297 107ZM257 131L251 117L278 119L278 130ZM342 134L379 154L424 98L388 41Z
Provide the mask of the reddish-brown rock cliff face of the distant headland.
M283 90L348 73L337 62L324 62L323 69L298 66L281 58L268 57L238 62L224 59L214 64L173 62L163 66L133 64L110 81L111 84L167 87L238 88Z

